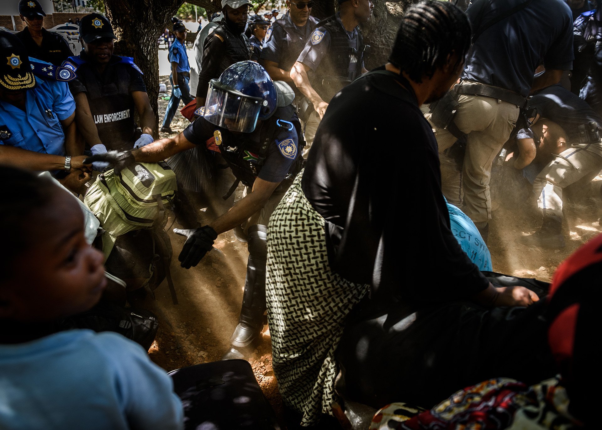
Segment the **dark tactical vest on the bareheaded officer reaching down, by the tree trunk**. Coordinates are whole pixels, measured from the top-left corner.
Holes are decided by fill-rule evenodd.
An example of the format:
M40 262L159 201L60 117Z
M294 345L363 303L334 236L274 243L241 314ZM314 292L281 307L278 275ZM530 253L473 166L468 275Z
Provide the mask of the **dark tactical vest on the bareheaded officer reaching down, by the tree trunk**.
M310 79L311 86L325 102L330 102L344 86L362 73L364 59L364 38L358 27L359 49L349 46L349 37L336 16L318 22L316 28L324 27L330 34L330 49ZM357 68L350 75L349 64L352 55L358 58Z

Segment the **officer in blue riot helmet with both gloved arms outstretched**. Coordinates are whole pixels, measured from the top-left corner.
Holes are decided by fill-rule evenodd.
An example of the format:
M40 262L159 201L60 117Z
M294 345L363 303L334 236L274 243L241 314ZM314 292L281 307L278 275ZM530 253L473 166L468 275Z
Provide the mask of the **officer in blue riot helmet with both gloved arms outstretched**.
M238 181L246 185L246 195L209 225L174 230L188 237L178 257L188 269L211 251L218 234L246 225L249 260L243 307L225 358L244 357L263 327L268 219L303 166L303 139L293 98L290 87L273 82L258 63L241 61L219 79L211 79L205 107L197 110L199 118L177 136L87 160L108 161L123 169L135 161L156 162L199 145L222 154L237 178L232 192Z

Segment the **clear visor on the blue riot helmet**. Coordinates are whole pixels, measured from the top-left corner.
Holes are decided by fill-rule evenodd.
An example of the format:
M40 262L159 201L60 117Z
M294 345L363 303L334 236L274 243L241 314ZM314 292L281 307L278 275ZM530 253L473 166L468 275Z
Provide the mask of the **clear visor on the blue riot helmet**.
M219 127L250 133L255 130L262 105L262 99L246 96L211 79L203 117Z

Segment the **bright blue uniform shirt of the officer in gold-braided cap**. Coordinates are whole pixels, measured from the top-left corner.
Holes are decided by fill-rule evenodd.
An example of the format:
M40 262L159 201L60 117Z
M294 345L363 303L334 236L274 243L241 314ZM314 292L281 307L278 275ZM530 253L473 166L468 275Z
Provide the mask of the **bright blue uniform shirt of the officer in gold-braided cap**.
M75 112L66 82L43 81L26 91L25 111L0 101L0 143L42 154L64 155L65 135L60 121Z

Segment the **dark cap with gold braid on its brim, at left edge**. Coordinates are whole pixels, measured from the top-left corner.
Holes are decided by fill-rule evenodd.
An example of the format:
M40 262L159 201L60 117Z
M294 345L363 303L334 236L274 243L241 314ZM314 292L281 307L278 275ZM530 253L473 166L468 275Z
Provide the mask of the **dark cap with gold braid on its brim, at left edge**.
M0 85L7 90L28 90L36 86L23 43L8 31L0 31Z

